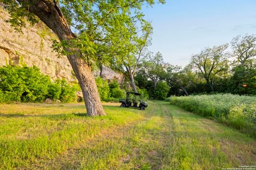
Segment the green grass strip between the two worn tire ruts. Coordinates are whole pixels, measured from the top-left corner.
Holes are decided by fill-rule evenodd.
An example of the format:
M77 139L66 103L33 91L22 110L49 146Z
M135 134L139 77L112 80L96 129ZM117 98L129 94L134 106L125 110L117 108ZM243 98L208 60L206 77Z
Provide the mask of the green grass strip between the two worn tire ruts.
M155 103L150 105L152 108L148 108L148 112L142 112L145 116L144 120L114 132L108 138L100 138L100 142L83 148L79 153L83 159L77 169L147 169L150 167L147 157L151 143L150 138L145 138L145 134L149 133L148 128L157 128L154 122L157 107ZM154 154L154 151L150 154Z

